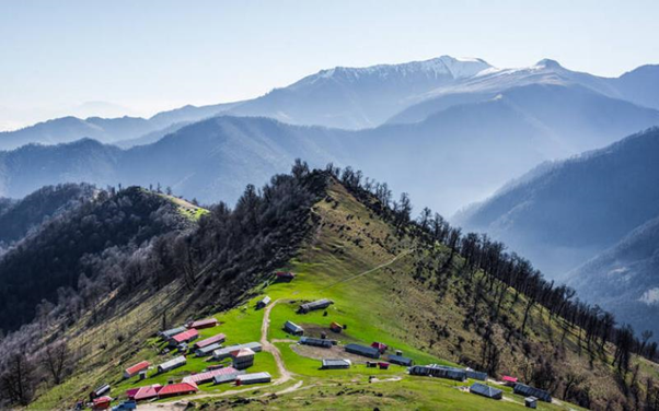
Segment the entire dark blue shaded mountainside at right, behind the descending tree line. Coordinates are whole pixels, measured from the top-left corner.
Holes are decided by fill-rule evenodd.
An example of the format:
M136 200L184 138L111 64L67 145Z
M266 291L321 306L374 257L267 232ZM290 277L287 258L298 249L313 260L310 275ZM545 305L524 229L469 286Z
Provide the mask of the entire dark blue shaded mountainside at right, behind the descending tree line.
M543 164L454 219L659 334L659 128Z

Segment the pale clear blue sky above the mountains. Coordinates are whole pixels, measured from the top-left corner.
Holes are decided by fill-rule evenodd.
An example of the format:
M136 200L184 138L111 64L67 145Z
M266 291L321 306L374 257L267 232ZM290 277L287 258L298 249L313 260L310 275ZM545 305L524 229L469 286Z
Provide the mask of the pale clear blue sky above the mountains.
M321 69L659 63L659 1L0 1L0 130L251 98Z

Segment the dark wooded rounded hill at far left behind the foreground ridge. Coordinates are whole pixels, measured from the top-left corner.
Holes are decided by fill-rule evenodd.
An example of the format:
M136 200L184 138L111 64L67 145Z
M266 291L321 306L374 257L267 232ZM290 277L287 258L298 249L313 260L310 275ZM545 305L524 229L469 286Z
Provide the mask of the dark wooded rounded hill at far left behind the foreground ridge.
M80 190L91 190L86 186L68 189L76 191L76 197ZM30 204L50 190L35 192L22 203L28 211ZM57 192L69 201L70 192L66 191ZM8 228L14 222L2 221ZM80 204L44 223L0 258L0 329L14 330L31 321L38 312L37 304L43 300L66 301L68 290L94 296L114 289L114 265L120 265L144 243L187 224L171 201L141 188L100 191L94 198L83 198ZM108 283L107 289L90 287L92 278Z

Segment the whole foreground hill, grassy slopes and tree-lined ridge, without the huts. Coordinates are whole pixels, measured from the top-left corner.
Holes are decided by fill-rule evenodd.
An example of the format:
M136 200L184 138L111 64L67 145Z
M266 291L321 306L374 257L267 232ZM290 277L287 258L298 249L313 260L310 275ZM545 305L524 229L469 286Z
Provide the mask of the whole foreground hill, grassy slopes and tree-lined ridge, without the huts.
M116 197L135 191L142 192L129 189ZM357 406L356 400L369 408L493 407L492 400L461 391L462 385L413 377L398 367L372 386L361 383L372 373L361 364L324 377L316 357L278 329L291 318L312 334L330 320L347 324L340 340L383 341L420 364L469 365L493 378L513 374L583 407L650 410L659 402L652 379L659 371L645 359L656 354L656 344L655 351L641 345L629 328L575 300L571 290L545 281L502 244L463 234L429 209L415 219L408 196L393 201L386 185L350 168L310 171L298 162L290 175L273 177L261 190L248 186L233 209L219 203L189 230L169 233L122 255L104 253L94 259L96 275L86 278L84 286L63 293L1 342L0 388L8 400L36 399L36 408L71 404L105 383L120 397L132 384L120 377L126 366L171 356L158 349L151 338L155 331L212 315L231 343L271 341L281 359L275 360L275 349L258 353L256 367L277 379L255 389L279 395L241 402L247 408L328 404L327 395L345 394L338 394L342 386L372 390L339 399L346 407ZM271 272L280 269L298 273L297 279L273 283ZM273 322L264 334L266 314L253 305L265 294L276 306L267 310ZM294 313L298 303L320 297L335 301L325 314ZM51 341L66 348L59 351L67 363L63 374L35 367L55 347L48 345ZM26 369L21 376L18 365ZM149 378L164 383L206 366L190 360L178 371ZM285 378L289 374L292 379ZM20 384L22 395L8 391L8 384ZM307 386L317 389L300 389ZM220 408L239 404L222 401L256 396L229 387L200 389L204 396L195 401ZM510 401L501 407L518 407L519 396L506 396Z

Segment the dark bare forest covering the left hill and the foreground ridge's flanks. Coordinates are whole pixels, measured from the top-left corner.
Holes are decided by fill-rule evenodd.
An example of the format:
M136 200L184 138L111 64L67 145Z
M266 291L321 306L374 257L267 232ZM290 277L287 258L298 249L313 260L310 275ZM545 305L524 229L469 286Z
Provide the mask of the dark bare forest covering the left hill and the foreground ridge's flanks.
M623 381L633 372L633 354L657 360L657 344L650 343L647 334L638 339L631 327L616 325L611 314L579 302L573 290L547 282L528 260L506 251L504 244L485 235L463 234L429 209L414 219L406 193L394 201L386 184L363 178L361 172L333 165L311 171L297 161L290 174L274 176L262 189L247 186L233 208L220 202L198 224L181 220L162 197L131 187L102 191L15 245L0 260L0 273L21 273L27 281L2 281L12 284L14 295L36 294L20 302L20 309L30 313L28 304L37 307L34 321L0 342L0 398L5 404L26 404L39 385L61 383L73 371L77 353L58 336L90 310L94 313L89 319L92 322L112 315L113 308L138 290L157 291L176 282L185 305L199 315L236 306L268 272L294 256L313 226L309 224L311 207L325 197L333 179L395 226L401 236L414 237L428 247L443 244L449 250L443 267L460 256L464 261L461 275L483 272L470 292L494 296L497 303L492 306L492 318L504 316L501 298L510 286L516 295L524 296L524 315L545 307L551 316L580 327L583 334L579 338L593 351L603 352L614 344L611 365ZM53 275L48 283L39 277L44 270ZM441 294L441 284L438 292ZM12 301L5 298L12 295L4 295L3 302ZM96 312L101 301L103 308ZM30 319L21 316L15 304L0 308L2 313L11 310L14 317L5 320L13 328ZM523 341L524 326L525 318L511 338ZM44 331L53 329L56 331ZM487 341L488 333L483 338ZM489 349L484 351L483 363L496 362L496 347L485 347ZM39 364L45 366L37 371ZM551 381L551 365L539 373L537 378ZM638 384L627 387L629 395ZM659 389L651 381L648 387L645 401L651 409L659 403ZM577 398L585 406L587 401L587 396Z

